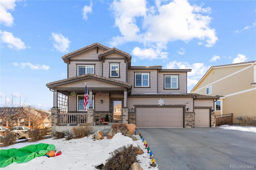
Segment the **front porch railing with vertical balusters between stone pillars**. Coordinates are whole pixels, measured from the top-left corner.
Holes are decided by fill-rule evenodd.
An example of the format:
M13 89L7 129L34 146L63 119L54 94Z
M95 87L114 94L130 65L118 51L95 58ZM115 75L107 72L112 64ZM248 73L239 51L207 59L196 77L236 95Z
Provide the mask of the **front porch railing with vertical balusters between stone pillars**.
M86 125L87 114L84 113L60 113L59 125Z

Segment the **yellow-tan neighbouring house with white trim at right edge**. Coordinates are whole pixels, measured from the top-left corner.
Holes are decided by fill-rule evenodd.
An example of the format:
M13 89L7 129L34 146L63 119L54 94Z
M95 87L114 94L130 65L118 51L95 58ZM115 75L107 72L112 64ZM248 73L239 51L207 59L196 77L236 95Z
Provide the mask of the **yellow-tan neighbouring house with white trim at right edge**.
M233 113L239 117L256 117L256 61L212 66L191 93L218 96L216 115Z

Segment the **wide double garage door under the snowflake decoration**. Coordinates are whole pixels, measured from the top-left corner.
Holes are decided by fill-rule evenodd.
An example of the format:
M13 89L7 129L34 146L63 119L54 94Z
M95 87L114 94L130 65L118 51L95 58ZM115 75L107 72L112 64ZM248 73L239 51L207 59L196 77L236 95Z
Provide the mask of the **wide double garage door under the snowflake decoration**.
M183 107L137 107L137 127L183 127Z

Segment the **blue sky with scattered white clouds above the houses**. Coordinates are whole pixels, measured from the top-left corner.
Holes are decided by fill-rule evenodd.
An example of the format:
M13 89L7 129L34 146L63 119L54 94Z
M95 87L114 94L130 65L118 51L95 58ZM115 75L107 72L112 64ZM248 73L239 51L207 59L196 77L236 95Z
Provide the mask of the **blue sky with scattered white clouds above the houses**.
M61 57L96 42L129 53L134 66L192 69L188 92L210 66L256 60L252 0L1 0L0 8L1 106L50 109L46 83L67 78Z

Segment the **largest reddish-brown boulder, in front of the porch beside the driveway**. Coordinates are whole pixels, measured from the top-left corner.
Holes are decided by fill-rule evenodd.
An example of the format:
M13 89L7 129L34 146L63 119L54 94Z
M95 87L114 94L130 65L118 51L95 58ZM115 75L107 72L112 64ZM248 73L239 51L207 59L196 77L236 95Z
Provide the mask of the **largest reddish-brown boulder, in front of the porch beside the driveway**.
M108 132L107 139L113 138L113 136L119 132L121 132L124 136L126 134L134 134L136 129L135 124L127 124L127 123L114 123Z

